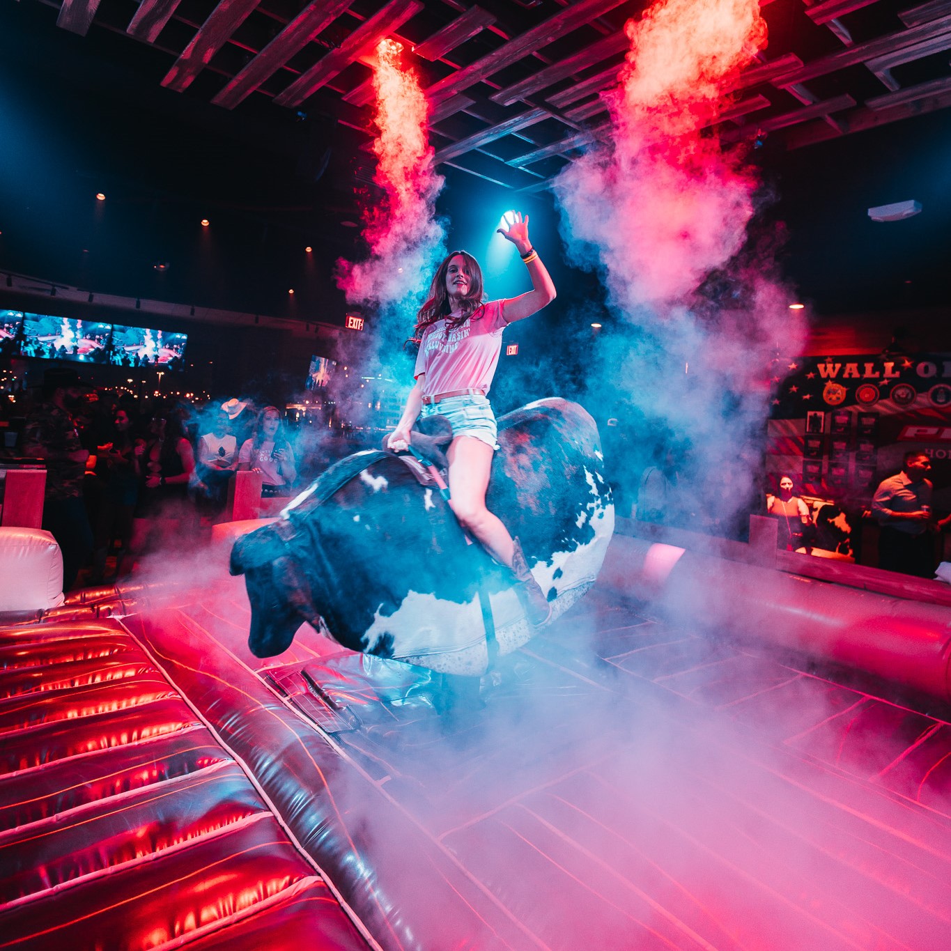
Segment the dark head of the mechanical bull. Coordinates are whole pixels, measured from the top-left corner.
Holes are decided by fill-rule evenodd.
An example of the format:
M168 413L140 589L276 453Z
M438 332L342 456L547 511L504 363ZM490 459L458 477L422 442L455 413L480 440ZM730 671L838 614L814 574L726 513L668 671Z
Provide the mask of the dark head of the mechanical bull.
M243 535L231 550L231 573L243 574L251 602L248 647L256 657L273 657L291 646L301 622L317 627L310 583L288 546L286 522Z

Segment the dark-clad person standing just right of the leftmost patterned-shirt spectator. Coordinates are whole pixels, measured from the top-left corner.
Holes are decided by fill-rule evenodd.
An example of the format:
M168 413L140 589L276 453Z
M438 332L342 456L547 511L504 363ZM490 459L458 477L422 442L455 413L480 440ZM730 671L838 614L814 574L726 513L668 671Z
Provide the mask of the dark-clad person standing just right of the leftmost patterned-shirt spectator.
M95 518L95 551L92 554L92 584L105 580L106 560L113 538L119 539L115 576L123 573L123 558L132 543L132 516L139 496L139 461L136 446L145 447L142 438L132 434L132 420L125 409L115 412L110 438L96 447L97 471L102 479L99 509Z

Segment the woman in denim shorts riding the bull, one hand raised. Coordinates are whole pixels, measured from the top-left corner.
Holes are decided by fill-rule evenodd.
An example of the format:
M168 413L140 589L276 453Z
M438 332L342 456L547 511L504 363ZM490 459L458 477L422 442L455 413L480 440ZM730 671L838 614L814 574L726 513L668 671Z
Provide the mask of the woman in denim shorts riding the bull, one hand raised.
M511 218L511 221L509 220ZM498 233L514 243L528 267L532 290L508 301L482 301L482 272L476 259L454 251L437 268L429 299L417 315L419 340L416 385L410 391L397 429L387 446L409 448L417 417L440 415L453 427L449 458L450 505L462 528L499 564L512 569L515 591L533 624L544 624L551 609L534 581L517 539L485 504L495 416L488 392L502 347L502 331L554 300L554 283L529 241L529 220L519 212L506 216Z

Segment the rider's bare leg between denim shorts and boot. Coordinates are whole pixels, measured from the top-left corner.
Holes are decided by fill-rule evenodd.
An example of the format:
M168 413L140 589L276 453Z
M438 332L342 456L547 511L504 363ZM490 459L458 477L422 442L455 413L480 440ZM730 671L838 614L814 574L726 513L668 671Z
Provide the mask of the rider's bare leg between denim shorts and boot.
M512 535L485 507L494 450L472 436L458 436L449 446L450 506L462 527L499 564L512 567Z

